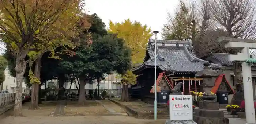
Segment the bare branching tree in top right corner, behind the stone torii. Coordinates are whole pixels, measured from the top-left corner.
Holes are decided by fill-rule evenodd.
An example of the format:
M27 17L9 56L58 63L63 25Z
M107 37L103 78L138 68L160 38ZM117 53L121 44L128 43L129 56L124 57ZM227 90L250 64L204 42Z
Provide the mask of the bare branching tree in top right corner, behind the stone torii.
M255 38L255 0L213 0L211 12L217 27L226 30L234 38ZM230 54L239 50L230 49ZM235 84L242 83L240 63L234 63Z

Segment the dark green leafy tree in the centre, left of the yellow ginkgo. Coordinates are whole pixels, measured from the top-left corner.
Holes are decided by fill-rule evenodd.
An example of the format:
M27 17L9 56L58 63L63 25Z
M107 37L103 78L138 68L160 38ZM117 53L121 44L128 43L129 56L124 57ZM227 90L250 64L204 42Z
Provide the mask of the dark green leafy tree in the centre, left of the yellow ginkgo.
M86 83L95 79L96 73L123 73L130 67L130 50L124 41L116 35L108 34L95 39L90 46L76 48L76 56L63 58L60 63L63 69L73 71L80 83L78 104L84 104Z

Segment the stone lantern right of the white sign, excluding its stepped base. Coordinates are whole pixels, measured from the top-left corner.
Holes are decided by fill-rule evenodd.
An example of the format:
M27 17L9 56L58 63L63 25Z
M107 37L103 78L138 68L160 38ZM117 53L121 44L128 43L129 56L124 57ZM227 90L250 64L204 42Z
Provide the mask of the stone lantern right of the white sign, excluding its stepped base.
M209 67L209 62L204 62L203 65L205 66L204 70L195 74L196 77L203 78L203 83L200 84L200 91L203 91L204 94L201 98L203 100L214 100L216 96L211 94L211 89L215 85L215 79L219 76L219 73Z

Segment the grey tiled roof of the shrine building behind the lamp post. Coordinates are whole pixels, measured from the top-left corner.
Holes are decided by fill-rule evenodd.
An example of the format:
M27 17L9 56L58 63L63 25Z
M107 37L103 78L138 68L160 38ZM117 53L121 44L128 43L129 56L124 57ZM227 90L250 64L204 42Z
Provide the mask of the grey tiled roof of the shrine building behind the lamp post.
M198 72L203 70L203 63L206 62L199 59L193 53L192 46L188 41L173 41L173 40L157 40L157 66L163 71L178 71L178 72ZM163 45L159 45L163 43ZM178 45L176 45L178 44ZM147 44L147 54L149 59L144 59L144 64L141 67L136 67L133 70L142 69L145 66L155 65L155 46L152 39ZM211 64L217 66L217 64Z

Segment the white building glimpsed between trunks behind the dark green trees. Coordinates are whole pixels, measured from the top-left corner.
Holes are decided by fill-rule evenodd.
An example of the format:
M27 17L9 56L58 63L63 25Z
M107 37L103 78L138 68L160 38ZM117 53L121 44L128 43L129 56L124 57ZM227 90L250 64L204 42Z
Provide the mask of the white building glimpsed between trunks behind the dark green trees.
M99 89L101 90L119 90L122 88L122 85L120 84L121 80L116 78L116 74L111 74L111 75L108 75L106 74L105 75L105 80L101 81L100 82L100 86L99 86ZM78 86L78 82L76 81L76 85L75 85L75 82L72 83L71 87L71 82L65 82L64 83L64 88L65 89L71 89L71 90L76 90L76 85ZM47 81L46 83L46 86L48 87L59 87L58 86L58 80L51 80L51 81ZM85 87L84 87L86 90L89 90L89 89L95 89L95 88L98 88L97 87L97 81L96 80L93 80L92 83L86 83ZM45 86L41 86L41 89L45 89Z

